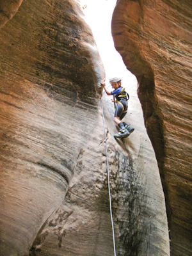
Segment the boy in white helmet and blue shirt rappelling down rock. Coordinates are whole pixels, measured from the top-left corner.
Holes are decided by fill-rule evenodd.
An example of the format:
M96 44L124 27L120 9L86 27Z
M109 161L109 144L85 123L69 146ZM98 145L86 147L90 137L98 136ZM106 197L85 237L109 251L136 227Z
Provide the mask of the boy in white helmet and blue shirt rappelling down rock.
M116 102L115 114L114 114L114 122L120 128L117 134L114 134L115 138L126 138L134 131L134 128L125 122L122 122L122 119L127 114L127 100L129 100L129 94L125 92L125 88L123 88L121 79L119 77L114 77L109 79L109 83L115 89L112 92L109 92L106 88L106 84L101 81L101 85L104 87L107 95L113 95L113 101ZM116 100L115 100L116 98Z

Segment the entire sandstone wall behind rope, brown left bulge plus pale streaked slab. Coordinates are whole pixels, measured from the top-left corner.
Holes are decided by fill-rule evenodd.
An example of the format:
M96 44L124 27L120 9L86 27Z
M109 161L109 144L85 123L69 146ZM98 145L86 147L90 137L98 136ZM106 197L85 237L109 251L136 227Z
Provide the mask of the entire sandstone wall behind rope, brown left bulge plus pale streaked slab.
M21 4L21 5L20 5ZM113 255L99 81L79 4L0 1L0 254ZM170 255L163 188L140 102L116 141L102 98L117 255ZM125 120L126 121L126 120Z

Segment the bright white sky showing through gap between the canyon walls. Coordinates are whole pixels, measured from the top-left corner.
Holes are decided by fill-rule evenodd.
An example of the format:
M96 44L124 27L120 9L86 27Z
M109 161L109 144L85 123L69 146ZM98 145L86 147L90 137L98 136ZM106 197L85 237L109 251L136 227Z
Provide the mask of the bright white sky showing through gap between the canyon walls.
M111 18L116 0L80 0L85 20L93 31L100 57L106 70L106 84L112 77L120 77L122 85L126 87L134 84L136 90L136 77L127 70L122 57L114 47L111 35Z

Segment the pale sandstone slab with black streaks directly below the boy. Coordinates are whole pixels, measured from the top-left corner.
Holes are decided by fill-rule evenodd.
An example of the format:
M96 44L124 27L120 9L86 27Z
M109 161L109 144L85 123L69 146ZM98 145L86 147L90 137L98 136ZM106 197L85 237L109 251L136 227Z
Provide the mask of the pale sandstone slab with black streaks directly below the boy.
M125 121L130 121L137 132L118 143L113 138L116 132L112 125L113 103L107 97L102 99L108 141L116 255L170 255L159 171L145 131L136 92L131 96L131 112ZM30 255L114 254L106 148L100 112L99 108L90 112L90 115L95 115L92 115L92 120L96 122L93 126L90 123L92 135L86 137L86 143L82 143L65 200L36 236Z

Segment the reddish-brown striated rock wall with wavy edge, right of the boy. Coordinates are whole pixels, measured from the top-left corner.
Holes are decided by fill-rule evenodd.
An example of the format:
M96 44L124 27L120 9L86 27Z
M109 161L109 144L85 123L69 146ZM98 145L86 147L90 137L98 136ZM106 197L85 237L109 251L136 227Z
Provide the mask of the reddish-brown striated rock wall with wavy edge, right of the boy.
M191 1L118 0L115 47L138 78L161 172L171 255L191 255Z

